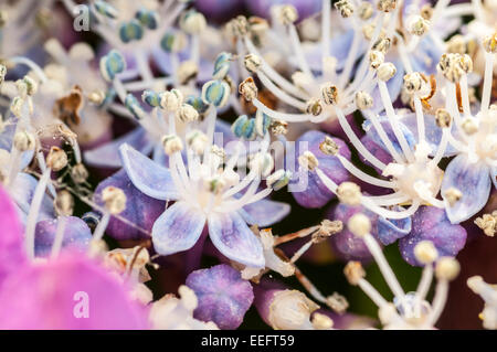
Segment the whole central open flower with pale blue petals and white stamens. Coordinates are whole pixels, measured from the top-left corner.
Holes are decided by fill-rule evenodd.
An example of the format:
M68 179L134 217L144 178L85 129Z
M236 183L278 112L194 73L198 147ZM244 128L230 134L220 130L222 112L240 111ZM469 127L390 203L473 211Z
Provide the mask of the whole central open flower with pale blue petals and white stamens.
M207 224L211 241L223 255L247 266L264 266L262 245L242 215L251 215L244 206L257 201L262 202L260 206L273 205L273 202L263 200L271 193L271 188L256 193L261 181L258 177L235 181L239 178L230 174L233 172L231 168L219 174L216 169L221 159L212 152L205 154L202 163L193 157L188 163L189 173L178 153L171 156L169 169L154 163L127 145L120 147L120 154L124 168L137 189L155 199L176 201L152 227L154 246L159 254L169 255L191 248ZM225 179L228 182L222 179L228 177L232 177L233 183L229 183L230 179ZM245 186L248 189L244 195L234 198ZM288 211L281 203L276 210L264 214L264 221L277 221Z

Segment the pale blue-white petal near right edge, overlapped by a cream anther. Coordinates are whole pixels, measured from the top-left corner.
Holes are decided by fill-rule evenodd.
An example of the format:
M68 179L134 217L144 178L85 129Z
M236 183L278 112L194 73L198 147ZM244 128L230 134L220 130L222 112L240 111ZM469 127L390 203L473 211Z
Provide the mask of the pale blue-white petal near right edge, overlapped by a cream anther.
M483 163L469 163L465 154L451 161L442 181L442 196L445 191L455 188L463 193L453 206L446 205L451 223L458 224L479 212L490 194L490 168Z

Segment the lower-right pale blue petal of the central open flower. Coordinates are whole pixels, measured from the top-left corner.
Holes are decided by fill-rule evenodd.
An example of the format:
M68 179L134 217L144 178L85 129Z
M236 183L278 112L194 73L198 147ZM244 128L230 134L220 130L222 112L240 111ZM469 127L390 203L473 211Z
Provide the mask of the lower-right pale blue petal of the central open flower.
M228 258L250 267L264 266L261 242L236 212L211 214L208 224L212 243Z

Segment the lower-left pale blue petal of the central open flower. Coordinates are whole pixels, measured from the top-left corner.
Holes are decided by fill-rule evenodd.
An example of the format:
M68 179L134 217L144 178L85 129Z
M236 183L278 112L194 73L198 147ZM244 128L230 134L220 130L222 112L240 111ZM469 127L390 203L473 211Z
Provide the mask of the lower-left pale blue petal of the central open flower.
M186 202L176 202L154 224L154 248L161 255L190 249L204 225L205 215L200 210Z

